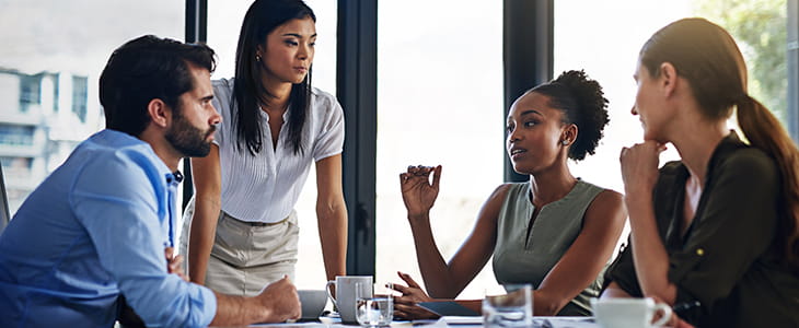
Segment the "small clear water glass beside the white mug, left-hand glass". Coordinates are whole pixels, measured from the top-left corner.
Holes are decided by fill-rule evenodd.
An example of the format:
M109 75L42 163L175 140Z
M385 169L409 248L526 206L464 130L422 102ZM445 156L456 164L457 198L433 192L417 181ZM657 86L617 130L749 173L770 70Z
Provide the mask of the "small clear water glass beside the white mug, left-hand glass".
M356 319L363 327L390 326L391 320L394 318L394 298L392 298L389 291L382 289L379 289L379 293L374 293L374 291L375 289L371 283L367 286L356 286Z

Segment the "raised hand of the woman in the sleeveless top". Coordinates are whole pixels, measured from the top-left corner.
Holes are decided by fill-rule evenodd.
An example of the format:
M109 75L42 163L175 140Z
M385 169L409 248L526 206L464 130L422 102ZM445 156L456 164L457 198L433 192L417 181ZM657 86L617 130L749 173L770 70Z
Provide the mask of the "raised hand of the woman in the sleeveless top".
M407 172L399 174L399 187L405 208L408 210L408 219L425 216L430 212L438 197L440 179L441 165L408 166Z

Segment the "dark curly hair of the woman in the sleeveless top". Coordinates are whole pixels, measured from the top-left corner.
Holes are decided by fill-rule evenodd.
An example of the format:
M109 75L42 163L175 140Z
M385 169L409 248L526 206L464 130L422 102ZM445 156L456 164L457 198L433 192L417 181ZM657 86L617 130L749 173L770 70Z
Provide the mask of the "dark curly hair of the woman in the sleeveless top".
M569 159L580 161L597 151L602 130L610 121L607 99L599 82L583 70L565 71L557 79L531 89L549 97L549 106L563 110L564 122L577 126L577 140L569 148Z

